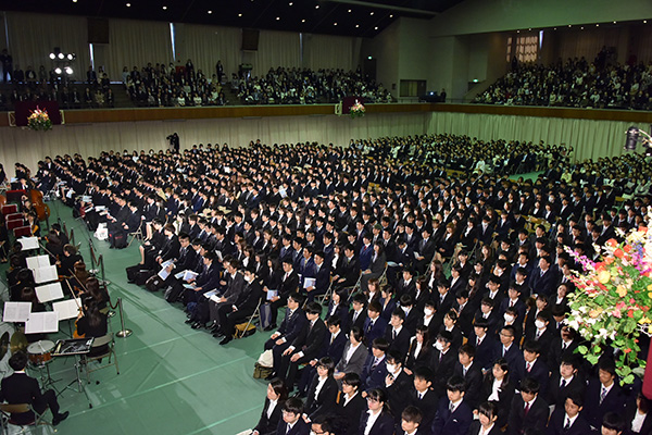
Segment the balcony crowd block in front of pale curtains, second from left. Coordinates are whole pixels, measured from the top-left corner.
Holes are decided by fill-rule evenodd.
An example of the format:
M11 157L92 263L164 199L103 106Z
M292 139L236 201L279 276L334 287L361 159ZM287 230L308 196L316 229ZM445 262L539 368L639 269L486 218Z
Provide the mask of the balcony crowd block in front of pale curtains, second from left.
M225 79L221 61L215 72L204 73L195 69L188 59L185 64L156 63L131 71L125 66L122 80L131 101L142 107L197 107L225 105L228 103L222 91Z

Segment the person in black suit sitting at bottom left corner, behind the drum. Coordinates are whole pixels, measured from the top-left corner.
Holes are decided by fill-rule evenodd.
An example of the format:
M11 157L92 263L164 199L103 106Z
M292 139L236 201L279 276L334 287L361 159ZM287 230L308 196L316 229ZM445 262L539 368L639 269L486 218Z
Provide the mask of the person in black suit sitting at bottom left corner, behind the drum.
M57 401L54 390L48 389L41 394L38 382L25 373L25 368L27 366L27 356L25 352L17 351L12 355L9 359L9 366L11 366L14 373L2 380L2 389L0 390L1 401L7 401L11 405L29 403L39 414L50 408L53 415L52 425L54 426L67 419L68 411L59 412L59 401ZM35 415L34 412L28 411L20 414L14 413L12 414L12 419L17 424L29 424L34 422Z

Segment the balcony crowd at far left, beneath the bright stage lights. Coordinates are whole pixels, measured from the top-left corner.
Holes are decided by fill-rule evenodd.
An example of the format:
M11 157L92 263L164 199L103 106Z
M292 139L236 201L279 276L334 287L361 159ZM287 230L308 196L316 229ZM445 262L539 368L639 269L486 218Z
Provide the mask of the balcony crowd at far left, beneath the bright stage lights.
M48 72L43 65L38 73L32 66L24 72L16 67L12 88L7 95L0 94L0 109L12 109L17 101L57 101L62 109L101 109L115 104L109 76L101 67L96 72L89 66L84 82L57 74L54 69Z

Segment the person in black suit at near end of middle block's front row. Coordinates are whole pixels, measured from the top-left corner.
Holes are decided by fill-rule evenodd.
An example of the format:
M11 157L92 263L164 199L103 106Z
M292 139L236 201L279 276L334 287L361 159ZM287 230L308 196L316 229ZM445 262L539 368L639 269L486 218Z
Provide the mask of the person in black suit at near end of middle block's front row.
M231 306L225 303L217 310L220 315L220 331L217 332L217 336L224 336L222 341L220 341L222 346L233 339L236 325L253 314L263 295L253 264L244 271L244 281L247 284L242 293L238 296L238 299Z

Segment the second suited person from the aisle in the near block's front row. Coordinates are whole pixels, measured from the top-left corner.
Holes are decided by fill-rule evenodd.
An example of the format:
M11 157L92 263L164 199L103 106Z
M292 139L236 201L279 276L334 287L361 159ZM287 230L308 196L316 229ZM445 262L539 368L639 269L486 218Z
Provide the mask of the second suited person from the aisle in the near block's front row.
M324 345L324 337L326 337L328 330L324 321L319 319L321 315L322 306L314 301L309 302L305 307L308 324L281 353L277 375L285 378L288 393L291 393L294 387L294 377L299 364L304 364L319 355Z

